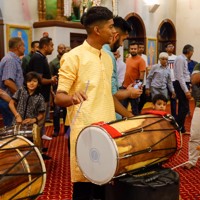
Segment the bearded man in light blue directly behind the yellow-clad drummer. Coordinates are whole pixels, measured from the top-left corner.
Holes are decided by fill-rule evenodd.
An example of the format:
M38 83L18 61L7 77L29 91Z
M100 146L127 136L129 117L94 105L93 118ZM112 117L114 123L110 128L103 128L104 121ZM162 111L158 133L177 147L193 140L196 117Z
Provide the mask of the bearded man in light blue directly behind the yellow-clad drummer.
M110 44L105 44L103 49L111 56L113 61L113 74L112 74L112 93L115 99L115 109L117 111L117 119L121 119L123 117L132 117L133 114L129 112L126 108L118 100L123 100L126 98L137 98L141 95L141 89L135 89L133 87L133 83L131 83L125 90L119 89L118 85L118 76L117 76L117 64L116 59L114 57L114 52L123 45L124 40L127 38L128 33L131 31L131 28L126 20L122 17L114 17L114 27L115 34L113 36L113 40ZM120 115L119 115L119 114Z

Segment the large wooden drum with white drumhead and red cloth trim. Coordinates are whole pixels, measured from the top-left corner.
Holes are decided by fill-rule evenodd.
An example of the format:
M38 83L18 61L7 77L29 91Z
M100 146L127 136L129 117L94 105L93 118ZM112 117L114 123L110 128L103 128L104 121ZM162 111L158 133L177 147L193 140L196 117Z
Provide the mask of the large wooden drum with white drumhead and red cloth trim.
M177 129L165 112L93 124L77 139L78 166L89 181L102 185L129 171L162 163L181 148Z

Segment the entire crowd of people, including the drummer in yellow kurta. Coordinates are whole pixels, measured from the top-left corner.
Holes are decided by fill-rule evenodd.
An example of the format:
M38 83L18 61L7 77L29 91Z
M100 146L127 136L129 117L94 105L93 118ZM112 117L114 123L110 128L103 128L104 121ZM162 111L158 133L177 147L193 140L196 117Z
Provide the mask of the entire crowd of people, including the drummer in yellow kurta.
M166 44L166 51L159 54L153 66L148 66L144 44L137 41L130 42L126 61L119 61L118 48L123 46L131 27L106 7L91 7L81 23L87 39L73 49L59 44L58 55L50 62L47 55L52 54L54 44L48 33L31 43L27 56L21 38L9 40L9 52L0 62L0 113L4 126L36 123L41 140L51 140L45 134L45 116L52 99L53 137L59 135L61 113L64 123L67 116L70 125L73 199L103 200L104 186L89 183L77 164L75 145L80 131L95 122L139 115L147 101L153 102L154 109L165 110L169 99L180 132L187 133L184 123L190 111L191 85L199 85L200 67L191 59L192 45L185 45L182 54L176 56L172 42ZM199 100L195 98L187 169L194 167L198 159ZM47 148L41 145L40 149L44 159L51 159L45 154Z

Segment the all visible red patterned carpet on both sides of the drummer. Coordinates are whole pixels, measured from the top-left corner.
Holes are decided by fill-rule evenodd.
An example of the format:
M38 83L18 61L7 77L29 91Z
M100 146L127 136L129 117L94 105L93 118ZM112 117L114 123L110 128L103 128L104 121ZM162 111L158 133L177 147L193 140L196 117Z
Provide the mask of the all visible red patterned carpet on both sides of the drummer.
M186 119L186 130L190 129L191 116L194 110L194 103L191 102L191 115ZM169 110L169 105L168 109ZM62 130L61 130L62 131ZM47 135L53 133L52 126L46 126ZM176 167L187 161L189 135L183 135L183 148L179 155L170 162L166 163L166 167ZM72 183L70 182L70 165L69 154L67 149L67 139L62 134L52 141L45 141L48 146L48 155L52 156L52 160L45 161L47 168L47 182L42 195L38 200L71 200ZM192 170L185 170L177 167L180 175L180 196L182 200L200 200L200 162L197 167Z

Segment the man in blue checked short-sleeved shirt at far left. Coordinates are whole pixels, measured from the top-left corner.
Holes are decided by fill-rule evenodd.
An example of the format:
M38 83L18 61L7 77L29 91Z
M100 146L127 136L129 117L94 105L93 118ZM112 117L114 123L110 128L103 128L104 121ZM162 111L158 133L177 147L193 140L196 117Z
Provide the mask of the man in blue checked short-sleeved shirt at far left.
M21 68L20 56L24 55L24 41L19 37L9 40L9 52L0 62L0 88L9 96L12 96L18 88L23 86L24 77ZM9 109L8 102L0 98L0 112L3 116L4 126L11 126L13 114Z

